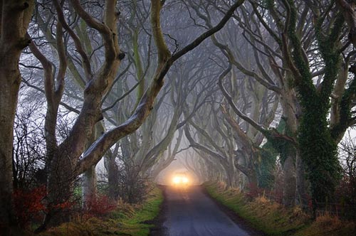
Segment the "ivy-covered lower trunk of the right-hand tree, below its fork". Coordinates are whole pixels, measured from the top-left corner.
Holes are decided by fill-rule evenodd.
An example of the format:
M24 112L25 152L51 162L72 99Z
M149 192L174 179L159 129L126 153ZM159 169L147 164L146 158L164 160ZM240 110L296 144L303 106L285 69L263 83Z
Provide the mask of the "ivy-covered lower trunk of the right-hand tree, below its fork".
M327 113L322 107L320 102L305 106L298 136L300 156L307 167L315 207L333 196L340 179L337 144L330 136Z

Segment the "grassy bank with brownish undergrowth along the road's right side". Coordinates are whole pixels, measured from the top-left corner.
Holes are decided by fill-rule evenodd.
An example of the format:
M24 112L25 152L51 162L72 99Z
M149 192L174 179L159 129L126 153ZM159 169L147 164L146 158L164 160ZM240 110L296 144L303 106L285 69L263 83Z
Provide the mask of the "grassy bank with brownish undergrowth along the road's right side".
M286 208L266 196L242 193L237 188L226 190L223 183L206 182L204 188L212 198L251 223L266 235L355 235L356 224L340 220L337 215L325 212L313 218L298 206Z

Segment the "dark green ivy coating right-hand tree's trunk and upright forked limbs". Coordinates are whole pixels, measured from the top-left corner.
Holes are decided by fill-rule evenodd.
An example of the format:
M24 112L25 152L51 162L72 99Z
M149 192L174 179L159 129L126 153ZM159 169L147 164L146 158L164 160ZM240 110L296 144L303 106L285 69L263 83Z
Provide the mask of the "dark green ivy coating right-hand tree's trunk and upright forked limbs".
M329 97L340 65L337 39L340 35L343 18L338 16L328 37L321 33L321 21L315 25L319 50L325 62L323 88L318 92L313 84L309 65L303 58L300 39L295 33L297 19L295 5L292 0L288 0L288 4L290 6L290 21L287 33L293 46L293 61L300 73L300 77L296 78L296 88L303 109L298 129L298 146L300 156L307 168L313 203L325 202L333 195L340 177L337 144L332 139L328 128L328 110L330 107Z

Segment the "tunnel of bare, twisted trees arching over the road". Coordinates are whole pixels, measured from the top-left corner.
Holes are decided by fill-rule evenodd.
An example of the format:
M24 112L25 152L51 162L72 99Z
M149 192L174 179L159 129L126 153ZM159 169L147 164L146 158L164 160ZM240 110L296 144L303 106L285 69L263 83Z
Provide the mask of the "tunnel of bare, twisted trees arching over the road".
M0 232L26 194L41 232L98 195L142 201L175 162L286 207L355 205L355 7L0 1Z

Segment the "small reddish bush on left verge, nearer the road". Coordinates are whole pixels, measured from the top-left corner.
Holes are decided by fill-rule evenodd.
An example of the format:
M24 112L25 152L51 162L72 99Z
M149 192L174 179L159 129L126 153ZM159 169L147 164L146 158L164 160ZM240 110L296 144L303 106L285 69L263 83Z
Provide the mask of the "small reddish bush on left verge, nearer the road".
M91 216L103 216L116 208L116 204L106 195L96 195L85 203L85 213Z

